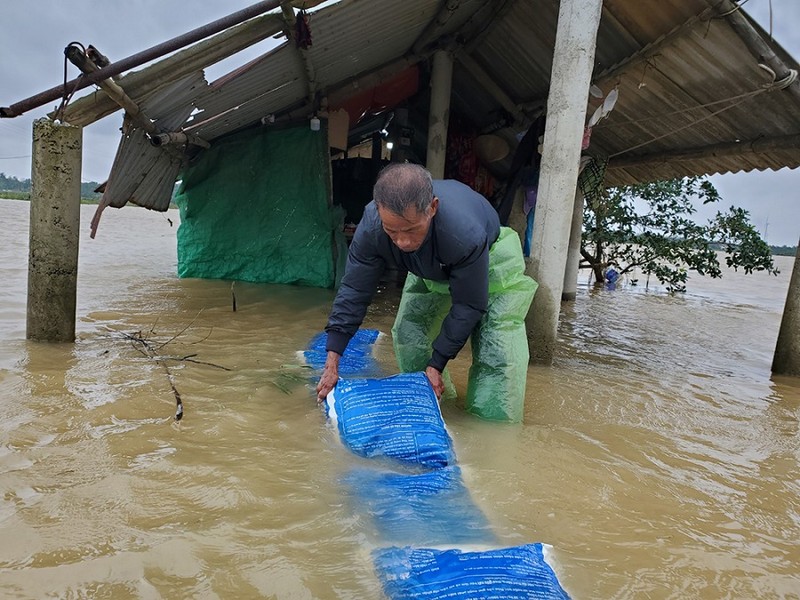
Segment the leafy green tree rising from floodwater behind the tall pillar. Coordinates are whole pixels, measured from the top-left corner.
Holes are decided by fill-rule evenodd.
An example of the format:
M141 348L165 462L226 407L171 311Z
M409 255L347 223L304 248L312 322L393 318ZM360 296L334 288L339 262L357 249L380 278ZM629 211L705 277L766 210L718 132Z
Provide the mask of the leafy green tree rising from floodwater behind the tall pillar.
M733 269L777 275L770 247L750 223L746 210L731 207L699 224L692 218L698 199L703 204L720 201L706 178L606 190L587 202L584 211L582 266L591 268L599 282L613 266L620 275L638 269L656 277L670 292L683 292L691 271L722 277L719 249Z

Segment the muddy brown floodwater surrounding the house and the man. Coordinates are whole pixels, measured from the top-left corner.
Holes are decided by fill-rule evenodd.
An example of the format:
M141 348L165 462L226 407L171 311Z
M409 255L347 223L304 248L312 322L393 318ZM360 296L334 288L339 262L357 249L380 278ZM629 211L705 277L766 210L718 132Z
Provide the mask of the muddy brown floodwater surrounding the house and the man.
M108 209L91 240L83 206L78 339L27 342L28 211L0 200L0 597L381 598L381 540L343 483L360 461L298 367L333 292L238 282L234 312L231 282L177 278L175 211ZM776 260L681 296L582 273L523 425L443 406L501 544L551 545L576 599L800 598L800 379L770 373L793 259ZM365 323L387 374L397 300Z

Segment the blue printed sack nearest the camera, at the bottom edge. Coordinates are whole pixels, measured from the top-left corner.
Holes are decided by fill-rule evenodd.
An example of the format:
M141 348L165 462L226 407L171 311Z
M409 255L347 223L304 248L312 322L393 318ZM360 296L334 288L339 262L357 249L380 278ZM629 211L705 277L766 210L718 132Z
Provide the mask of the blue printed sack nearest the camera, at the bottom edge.
M483 552L392 547L375 550L373 562L392 600L569 598L542 544Z

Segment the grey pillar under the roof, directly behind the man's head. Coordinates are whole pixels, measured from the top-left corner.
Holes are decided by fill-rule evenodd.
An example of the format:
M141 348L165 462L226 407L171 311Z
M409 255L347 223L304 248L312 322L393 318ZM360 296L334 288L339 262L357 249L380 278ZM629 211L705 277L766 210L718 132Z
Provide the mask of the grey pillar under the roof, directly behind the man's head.
M450 120L450 89L453 86L453 55L446 50L433 54L431 108L428 115L428 158L426 167L434 179L444 178L447 125Z

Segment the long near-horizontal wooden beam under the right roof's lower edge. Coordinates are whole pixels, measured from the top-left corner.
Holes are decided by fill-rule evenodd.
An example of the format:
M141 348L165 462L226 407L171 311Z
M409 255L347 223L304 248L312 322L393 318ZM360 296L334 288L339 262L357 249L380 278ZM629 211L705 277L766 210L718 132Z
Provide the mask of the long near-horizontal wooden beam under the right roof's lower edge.
M760 138L745 142L724 142L685 150L671 150L639 156L620 156L608 162L609 169L625 169L656 163L697 160L701 158L745 156L748 154L766 154L780 150L797 150L800 147L800 133L773 138Z

